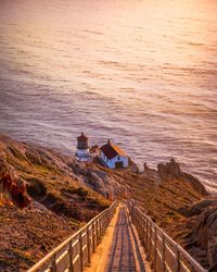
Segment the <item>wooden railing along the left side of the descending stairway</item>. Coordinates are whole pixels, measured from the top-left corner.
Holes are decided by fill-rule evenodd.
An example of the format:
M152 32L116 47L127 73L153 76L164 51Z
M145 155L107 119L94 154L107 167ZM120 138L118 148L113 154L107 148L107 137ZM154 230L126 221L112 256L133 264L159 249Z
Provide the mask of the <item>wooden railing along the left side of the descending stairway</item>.
M101 237L114 214L117 202L93 218L87 225L63 242L36 263L28 272L82 272L90 263Z

